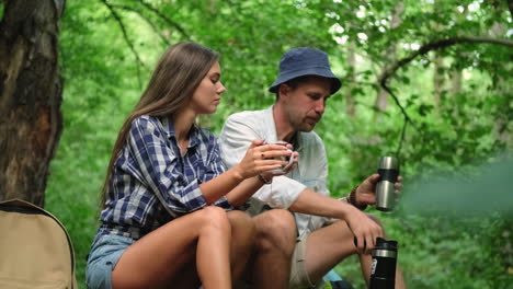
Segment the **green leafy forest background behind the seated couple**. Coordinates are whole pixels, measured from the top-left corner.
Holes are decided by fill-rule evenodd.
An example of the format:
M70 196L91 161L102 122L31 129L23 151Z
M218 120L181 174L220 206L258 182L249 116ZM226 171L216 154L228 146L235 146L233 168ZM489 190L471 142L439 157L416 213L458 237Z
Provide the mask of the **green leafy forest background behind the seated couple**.
M162 51L193 41L221 55L228 91L201 119L216 134L231 113L273 103L266 89L286 49L327 51L343 81L316 127L332 196L398 155L399 207L369 211L399 242L409 288L513 288L512 10L505 0L68 0L64 131L45 206L71 235L80 286L117 131ZM364 288L356 258L335 270Z

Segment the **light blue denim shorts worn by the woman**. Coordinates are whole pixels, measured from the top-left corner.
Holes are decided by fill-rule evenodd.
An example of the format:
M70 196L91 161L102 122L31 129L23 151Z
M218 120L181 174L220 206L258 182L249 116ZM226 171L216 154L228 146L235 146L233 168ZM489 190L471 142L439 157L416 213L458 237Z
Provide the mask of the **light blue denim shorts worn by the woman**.
M112 270L134 239L121 235L95 238L89 253L86 282L89 289L112 289Z

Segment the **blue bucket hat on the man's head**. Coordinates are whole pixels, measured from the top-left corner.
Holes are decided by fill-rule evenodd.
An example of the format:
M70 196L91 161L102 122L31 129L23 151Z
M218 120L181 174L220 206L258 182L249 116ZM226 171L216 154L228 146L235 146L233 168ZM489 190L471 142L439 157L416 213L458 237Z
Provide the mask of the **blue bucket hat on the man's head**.
M280 84L304 76L317 76L332 80L331 94L335 93L342 82L330 69L328 55L319 49L298 47L286 51L280 59L280 72L277 79L269 88L276 93Z

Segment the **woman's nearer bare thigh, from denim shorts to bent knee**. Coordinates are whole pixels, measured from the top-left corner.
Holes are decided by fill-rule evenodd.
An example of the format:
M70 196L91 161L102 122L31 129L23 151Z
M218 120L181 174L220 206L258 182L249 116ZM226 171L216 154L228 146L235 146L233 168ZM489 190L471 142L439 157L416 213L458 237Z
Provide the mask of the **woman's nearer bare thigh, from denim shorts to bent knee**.
M202 230L219 223L228 223L226 212L206 207L148 233L121 256L112 275L113 288L166 287L179 277L186 284L183 279L191 276L181 274L195 267L196 244ZM191 282L197 282L197 278L192 278Z

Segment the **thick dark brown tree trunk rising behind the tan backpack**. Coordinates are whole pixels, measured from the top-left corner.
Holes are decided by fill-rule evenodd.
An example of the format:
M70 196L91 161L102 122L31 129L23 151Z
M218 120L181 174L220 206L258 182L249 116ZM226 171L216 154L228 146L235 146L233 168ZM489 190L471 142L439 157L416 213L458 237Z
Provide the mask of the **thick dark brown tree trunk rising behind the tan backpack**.
M66 0L8 0L0 22L0 200L44 206L62 130L58 20Z

